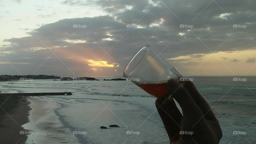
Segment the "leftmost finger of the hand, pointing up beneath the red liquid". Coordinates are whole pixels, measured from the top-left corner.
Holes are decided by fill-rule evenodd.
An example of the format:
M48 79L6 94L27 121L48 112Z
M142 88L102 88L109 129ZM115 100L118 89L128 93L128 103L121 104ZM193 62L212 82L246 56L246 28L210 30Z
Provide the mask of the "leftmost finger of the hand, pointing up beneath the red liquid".
M163 99L157 99L155 105L165 125L170 141L178 140L182 115L174 100L172 99L166 104Z

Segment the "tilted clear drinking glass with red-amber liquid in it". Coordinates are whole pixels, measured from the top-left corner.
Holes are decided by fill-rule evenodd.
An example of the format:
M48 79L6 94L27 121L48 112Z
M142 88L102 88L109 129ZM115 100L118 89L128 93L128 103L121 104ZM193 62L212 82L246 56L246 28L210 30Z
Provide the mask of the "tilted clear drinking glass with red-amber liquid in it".
M157 98L163 98L168 93L169 79L179 81L182 78L155 48L148 45L141 48L131 59L123 76Z

